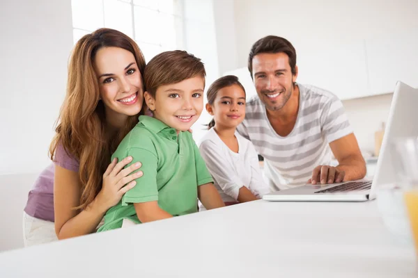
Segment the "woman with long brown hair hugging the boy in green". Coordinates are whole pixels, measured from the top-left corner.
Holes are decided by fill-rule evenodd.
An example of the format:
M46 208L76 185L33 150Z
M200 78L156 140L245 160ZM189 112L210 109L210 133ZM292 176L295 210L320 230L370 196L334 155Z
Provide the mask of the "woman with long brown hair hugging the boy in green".
M124 169L132 157L109 162L145 110L144 67L137 44L116 30L98 29L75 45L49 149L54 164L40 174L24 209L25 246L94 232L141 177L141 163Z

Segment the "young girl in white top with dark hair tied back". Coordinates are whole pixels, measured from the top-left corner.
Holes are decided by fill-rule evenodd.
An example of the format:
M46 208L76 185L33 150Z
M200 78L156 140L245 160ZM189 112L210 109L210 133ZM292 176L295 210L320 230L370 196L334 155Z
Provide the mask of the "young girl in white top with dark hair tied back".
M251 142L236 132L245 117L245 89L228 75L210 85L206 110L213 116L200 151L226 205L260 199L269 193ZM200 205L201 210L204 209Z

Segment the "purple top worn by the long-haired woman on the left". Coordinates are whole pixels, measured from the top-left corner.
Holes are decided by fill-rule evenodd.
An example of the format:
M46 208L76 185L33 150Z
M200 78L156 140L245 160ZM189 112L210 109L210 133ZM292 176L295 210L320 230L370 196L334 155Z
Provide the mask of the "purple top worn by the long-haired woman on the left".
M24 211L34 218L54 222L54 173L55 165L79 172L79 162L72 158L62 145L56 147L54 163L43 170L31 191Z

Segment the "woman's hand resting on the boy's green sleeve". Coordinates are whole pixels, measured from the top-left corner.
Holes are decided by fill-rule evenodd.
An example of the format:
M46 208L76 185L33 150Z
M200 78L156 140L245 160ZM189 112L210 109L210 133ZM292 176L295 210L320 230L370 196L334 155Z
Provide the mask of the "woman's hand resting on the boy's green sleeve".
M121 201L123 195L135 186L137 182L134 179L142 176L142 171L131 174L134 170L142 166L140 162L123 169L131 161L132 156L128 156L119 163L117 163L118 159L114 158L109 164L109 167L107 167L106 172L104 172L102 190L100 190L100 193L96 197L99 206L104 211L107 211L112 206L116 206Z

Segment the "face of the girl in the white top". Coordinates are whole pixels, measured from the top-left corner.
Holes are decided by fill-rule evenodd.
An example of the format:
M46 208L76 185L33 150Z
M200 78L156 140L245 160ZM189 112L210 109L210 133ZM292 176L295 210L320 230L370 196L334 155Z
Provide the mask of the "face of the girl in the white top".
M217 92L212 105L206 104L206 110L213 115L218 128L235 128L245 118L245 92L235 84L224 87Z

